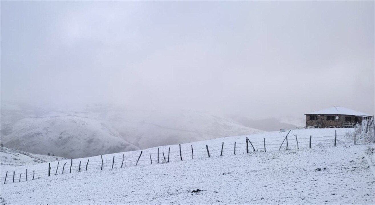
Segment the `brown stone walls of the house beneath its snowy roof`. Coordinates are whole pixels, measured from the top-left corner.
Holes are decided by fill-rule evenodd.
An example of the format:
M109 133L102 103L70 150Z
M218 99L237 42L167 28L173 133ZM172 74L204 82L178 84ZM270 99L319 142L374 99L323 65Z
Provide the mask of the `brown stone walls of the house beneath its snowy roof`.
M313 115L318 116L318 120L311 120L310 114L306 114L306 127L308 126L315 126L320 128L329 128L329 127L342 127L343 123L348 122L356 122L356 116L353 115L329 115L329 114L322 114L322 115ZM335 120L327 120L327 116L333 116ZM339 119L336 119L336 116L339 116ZM351 117L351 121L345 121L345 117ZM358 117L358 123L362 123L362 117Z

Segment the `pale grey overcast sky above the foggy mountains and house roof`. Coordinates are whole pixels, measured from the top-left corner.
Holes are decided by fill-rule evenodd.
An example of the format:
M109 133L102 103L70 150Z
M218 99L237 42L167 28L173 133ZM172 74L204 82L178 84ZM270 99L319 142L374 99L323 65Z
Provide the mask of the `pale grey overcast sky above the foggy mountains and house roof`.
M375 113L375 1L0 1L0 97Z

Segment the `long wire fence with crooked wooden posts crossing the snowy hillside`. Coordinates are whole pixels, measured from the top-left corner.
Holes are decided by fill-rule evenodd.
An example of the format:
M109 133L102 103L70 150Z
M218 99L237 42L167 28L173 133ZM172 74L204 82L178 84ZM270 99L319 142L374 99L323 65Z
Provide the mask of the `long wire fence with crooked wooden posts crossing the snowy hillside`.
M46 166L45 169L31 170L30 167L28 167L28 169L25 169L23 172L16 173L15 171L7 171L5 176L0 176L0 183L17 183L21 181L35 180L42 177L50 177L51 175L65 175L70 174L71 172L92 171L93 169L96 171L101 171L103 169L126 168L128 166L144 166L157 163L169 163L180 160L193 160L197 158L201 159L207 157L220 157L234 154L246 154L251 152L269 152L280 150L281 148L283 148L284 150L291 150L300 148L312 148L314 146L337 146L342 144L356 143L355 134L353 141L352 139L348 139L348 135L337 135L336 131L335 135L321 137L310 136L299 138L297 135L288 135L289 133L285 136L284 140L267 141L266 138L264 138L264 140L262 141L251 141L251 139L244 137L243 140L245 142L233 141L233 143L231 144L225 144L222 142L219 145L206 145L205 147L199 148L190 145L188 146L189 149L186 149L184 147L185 149L183 150L181 150L181 144L179 144L175 145L179 146L179 149L173 152L170 151L171 147L164 147L164 149L156 148L156 152L140 151L140 154L136 154L138 156L124 156L124 154L122 154L122 156L115 157L115 155L118 155L117 153L114 154L113 157L111 157L111 160L109 160L108 158L103 160L102 156L100 156L100 158L97 160L93 160L92 157L89 157L90 159L64 160L61 161L61 163L60 161L49 162L48 167Z

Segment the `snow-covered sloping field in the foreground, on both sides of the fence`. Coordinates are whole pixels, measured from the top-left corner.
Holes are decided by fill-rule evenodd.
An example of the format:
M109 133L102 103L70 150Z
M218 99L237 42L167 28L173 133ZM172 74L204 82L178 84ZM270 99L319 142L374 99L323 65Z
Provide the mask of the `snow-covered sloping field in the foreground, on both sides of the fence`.
M336 147L333 146L337 131ZM217 138L179 146L23 166L9 171L6 184L1 167L2 204L374 204L375 173L371 158L374 144L357 145L345 135L352 129L303 129L286 132ZM295 139L297 135L299 150ZM312 148L309 138L312 135ZM246 154L246 137L251 140ZM266 151L263 152L264 138ZM236 141L236 155L234 155ZM223 156L220 156L222 142ZM194 159L192 159L193 145ZM205 145L211 157L208 158ZM370 147L369 147L370 146ZM169 163L167 159L170 147ZM159 164L157 164L159 148ZM122 155L124 154L124 164ZM150 163L150 154L153 160ZM115 156L114 168L112 160ZM370 160L366 160L370 158ZM88 170L86 163L89 159ZM81 171L78 164L81 161ZM66 163L62 174L61 166ZM37 179L25 181L24 169L36 170ZM12 183L13 171L16 182ZM24 176L24 173L22 174ZM197 191L199 189L199 191ZM195 191L195 192L194 192Z

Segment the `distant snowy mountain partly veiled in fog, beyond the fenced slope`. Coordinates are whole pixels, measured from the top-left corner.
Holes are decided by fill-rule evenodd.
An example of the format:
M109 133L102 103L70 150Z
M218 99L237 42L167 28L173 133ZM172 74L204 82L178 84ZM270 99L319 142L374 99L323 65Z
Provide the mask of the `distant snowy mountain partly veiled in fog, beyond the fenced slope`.
M27 152L68 158L262 132L193 111L133 110L91 105L80 111L1 103L0 140Z

